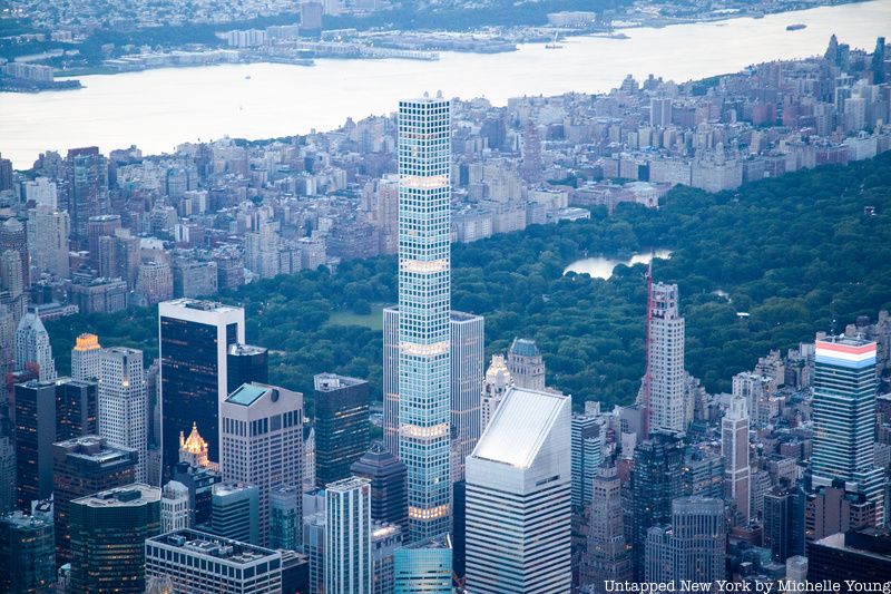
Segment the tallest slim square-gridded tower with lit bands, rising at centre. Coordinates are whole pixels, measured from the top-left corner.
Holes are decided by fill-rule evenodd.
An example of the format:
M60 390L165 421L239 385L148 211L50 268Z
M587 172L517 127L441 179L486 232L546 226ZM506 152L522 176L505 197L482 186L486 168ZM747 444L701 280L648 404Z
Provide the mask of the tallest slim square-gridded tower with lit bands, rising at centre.
M399 452L409 541L449 530L451 104L399 103Z

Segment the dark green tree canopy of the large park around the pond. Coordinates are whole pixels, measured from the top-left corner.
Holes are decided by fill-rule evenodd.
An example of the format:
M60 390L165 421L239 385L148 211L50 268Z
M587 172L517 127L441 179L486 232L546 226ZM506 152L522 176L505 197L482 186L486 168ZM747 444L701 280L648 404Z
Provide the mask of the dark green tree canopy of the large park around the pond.
M864 213L873 206L874 215ZM613 216L533 225L452 249L452 306L486 317L487 358L517 337L535 339L549 384L577 406L634 399L644 373L643 265L609 280L562 271L587 255L668 249L654 279L677 283L686 318L686 367L709 391L728 390L771 349L813 340L858 315L891 309L891 153L708 194L669 192L658 211L620 205ZM270 380L312 393L312 376L334 371L381 393L380 330L329 323L334 311L396 301L392 256L283 275L222 295L246 308L247 337L268 347ZM718 293L721 292L721 293ZM748 317L738 317L746 312ZM77 332L157 356L157 311L74 315L47 323L60 370Z

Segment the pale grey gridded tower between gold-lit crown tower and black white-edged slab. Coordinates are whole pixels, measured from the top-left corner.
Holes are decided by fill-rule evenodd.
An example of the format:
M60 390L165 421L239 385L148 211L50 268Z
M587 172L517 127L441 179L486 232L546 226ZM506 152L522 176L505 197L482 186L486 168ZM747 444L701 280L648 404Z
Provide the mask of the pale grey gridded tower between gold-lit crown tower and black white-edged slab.
M139 452L136 481L145 483L148 457L148 402L143 351L114 347L99 363L99 435Z

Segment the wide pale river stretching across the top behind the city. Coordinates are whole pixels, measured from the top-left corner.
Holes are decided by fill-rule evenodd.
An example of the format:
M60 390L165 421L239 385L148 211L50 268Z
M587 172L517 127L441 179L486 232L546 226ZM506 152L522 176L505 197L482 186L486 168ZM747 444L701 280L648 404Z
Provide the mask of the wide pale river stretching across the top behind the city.
M799 31L786 26L801 22ZM495 55L443 52L439 61L317 60L314 67L253 64L82 77L85 88L0 94L0 153L29 167L40 152L136 144L147 154L226 135L270 138L332 129L442 90L505 105L519 95L604 92L627 74L685 81L780 58L822 53L829 37L872 51L891 37L891 0L768 14L763 19L626 29L630 39L575 37ZM249 78L246 78L249 75Z

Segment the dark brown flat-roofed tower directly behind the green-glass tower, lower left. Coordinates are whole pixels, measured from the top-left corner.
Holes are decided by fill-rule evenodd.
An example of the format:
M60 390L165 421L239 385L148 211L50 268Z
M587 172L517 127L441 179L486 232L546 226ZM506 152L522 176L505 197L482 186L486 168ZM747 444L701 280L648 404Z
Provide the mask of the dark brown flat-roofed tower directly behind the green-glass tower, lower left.
M53 444L52 458L56 557L61 565L71 561L71 500L133 484L139 452L90 435Z

